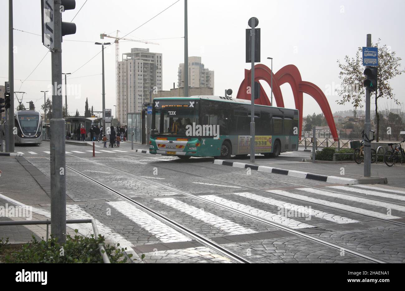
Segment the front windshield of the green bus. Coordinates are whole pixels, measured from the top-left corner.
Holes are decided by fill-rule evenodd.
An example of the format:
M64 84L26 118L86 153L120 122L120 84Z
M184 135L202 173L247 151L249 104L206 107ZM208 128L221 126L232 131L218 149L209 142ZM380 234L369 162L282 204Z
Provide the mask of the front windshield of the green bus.
M152 135L181 135L185 136L186 126L198 123L196 110L156 110L152 118Z

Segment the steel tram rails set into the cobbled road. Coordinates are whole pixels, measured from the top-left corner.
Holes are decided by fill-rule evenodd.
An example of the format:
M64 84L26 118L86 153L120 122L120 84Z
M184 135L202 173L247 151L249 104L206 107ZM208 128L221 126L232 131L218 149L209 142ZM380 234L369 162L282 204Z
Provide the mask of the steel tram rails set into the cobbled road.
M40 154L40 153L38 153L38 154ZM43 155L43 154L40 154L40 155L41 155L41 156L44 156L45 158L50 159L49 157L47 157L47 156L45 156L45 155ZM186 191L179 190L179 189L176 189L176 188L173 188L173 187L170 187L170 186L161 184L161 183L159 183L159 182L156 182L156 181L153 181L153 180L149 180L149 179L147 179L147 178L143 178L143 177L141 177L141 176L139 176L139 175L134 175L134 174L132 174L132 173L128 173L127 171L123 171L123 170L117 169L117 168L115 168L115 167L111 167L111 166L108 166L108 165L104 165L104 164L98 163L98 162L96 162L96 161L94 161L94 160L88 160L88 159L86 159L86 158L81 158L81 157L75 156L75 155L73 155L73 154L67 154L67 155L68 155L68 156L71 156L71 157L73 157L73 158L78 158L78 159L81 159L81 160L85 160L85 161L88 162L88 163L94 163L94 164L96 164L96 165L99 165L99 166L102 166L102 167L111 169L111 170L113 170L113 171L117 171L117 172L120 172L120 173L129 175L129 176L132 176L132 177L137 178L137 179L139 179L139 180L143 180L143 181L148 182L148 183L150 183L150 184L154 184L154 185L160 186L160 187L162 187L162 188L165 188L165 189L167 189L167 190L171 190L171 191L176 192L176 193L179 193L179 194L181 194L181 195L185 195L185 196L187 196L187 197L194 198L194 199L196 199L196 200L202 201L202 202L207 203L207 204L209 204L209 205L214 205L214 206L216 206L216 207L218 207L218 208L222 208L222 209L224 209L224 210L228 210L228 211L230 211L230 212L239 214L239 215L241 215L241 216L244 216L244 217L247 217L247 218L251 218L251 219L256 220L256 221L258 221L258 222L260 222L260 223L263 223L263 224L265 224L265 225L270 225L270 226L273 226L273 227L275 227L275 228L277 228L277 229L286 231L286 232L288 232L288 233L292 233L293 235L296 235L296 236L298 236L298 237L305 238L305 239L307 239L307 240L310 240L310 241L313 241L313 242L317 242L317 243L323 244L323 245L328 246L328 247L330 247L330 248L337 249L337 250L339 250L339 252L343 249L343 250L345 250L345 252L347 252L347 253L350 253L350 254L352 254L352 255L354 255L354 256L356 256L356 257L361 257L361 258L363 258L363 259L367 259L367 260L369 260L369 261L371 261L371 262L374 262L374 263L390 263L389 261L386 261L386 260L383 260L383 259L379 259L379 258L377 258L377 257L368 255L368 254L366 254L366 253L364 253L364 252L360 252L360 251L354 250L354 249L352 249L352 248L348 248L348 247L346 247L346 246L342 246L342 245L336 244L336 243L334 243L334 242L330 242L330 241L328 241L328 240L325 240L325 239L322 239L322 238L318 238L318 237L316 237L316 236L314 236L314 235L311 235L311 234L308 234L308 233L303 233L303 232L301 232L301 231L292 229L292 228L290 228L290 227L281 225L281 224L279 224L279 223L275 223L275 222L270 221L270 220L267 220L267 219L265 219L265 218L261 218L261 217L259 217L259 216L256 216L256 215L253 215L253 214L249 214L249 213L247 213L247 212L243 212L243 211L241 211L241 210L237 210L237 209L231 208L231 207L229 207L229 206L226 206L226 205L217 203L217 202L215 202L215 201L211 201L211 200L209 200L209 199L205 199L205 198L203 198L203 197L199 197L198 195L193 195L192 193L188 193L188 192L186 192ZM120 157L117 157L117 156L116 156L116 158L120 158ZM132 162L134 162L134 163L141 163L141 164L149 165L148 163L143 163L143 162L139 162L139 161L134 161L134 160L126 159L126 158L121 158L121 159L128 160L128 161L132 161ZM66 168L68 168L68 169L70 169L71 171L73 171L73 172L75 172L75 173L77 173L77 174L79 174L79 175L81 175L81 176L87 178L88 180L94 182L95 184L98 184L98 185L101 186L102 188L108 189L108 190L111 191L112 193L115 193L116 195L119 195L120 197L126 199L126 200L129 201L130 203L134 203L136 206L138 206L138 207L141 208L142 210L145 210L145 212L151 214L153 217L156 217L156 218L158 218L158 219L161 220L161 221L163 221L162 219L164 219L164 222L165 222L165 223L167 223L168 225L171 225L171 226L174 227L175 229L182 230L182 232L186 231L186 233L189 233L189 232L190 232L189 235L191 235L193 238L197 238L198 241L200 241L200 242L202 241L203 244L208 245L210 248L213 248L213 249L215 249L215 250L218 249L221 254L227 254L227 256L231 256L232 258L234 258L234 261L238 261L238 262L242 262L242 263L250 263L250 261L248 261L247 259L245 259L245 258L243 258L243 257L241 257L241 256L239 256L239 255L237 255L237 254L234 254L232 251L230 251L230 250L228 250L228 249L222 247L220 244L217 244L217 243L213 242L213 241L210 240L209 238L206 238L205 236L200 235L199 233L196 233L195 231L193 231L193 230L191 230L191 229L188 229L187 227L185 227L185 226L183 226L183 225L177 223L175 220L172 220L172 219L170 219L170 218L167 218L166 216L163 216L162 214L159 214L157 211L152 210L151 208L147 207L146 205L143 205L142 203L139 203L138 201L135 201L135 200L131 199L130 197L127 197L126 195L123 195L122 193L119 193L119 191L116 191L116 190L114 190L114 189L112 189L112 188L110 188L110 187L108 187L108 186L105 186L104 184L102 184L101 182L98 182L97 180L91 178L90 176L88 176L88 175L86 175L86 174L84 174L84 173L81 173L80 171L78 171L78 170L76 170L76 169L73 169L72 167L66 166ZM190 174L190 175L198 176L198 177L200 177L200 178L207 178L207 177L203 177L203 176L200 176L200 175L191 174L191 173L185 173L185 172L182 172L182 171L173 170L173 169L169 169L169 168L165 168L165 167L161 167L161 168L168 169L168 170L172 170L172 171L176 171L176 172L183 173L183 174ZM207 178L207 179L210 179L210 178ZM211 180L215 180L215 179L211 178ZM217 182L225 182L225 181L221 181L221 180L216 180L216 181L217 181ZM226 183L228 183L228 184L233 184L233 183L230 183L230 182L226 182ZM238 185L238 184L234 184L234 185ZM245 188L250 188L250 187L243 186L243 185L238 185L238 186L242 186L242 187L245 187ZM254 188L251 188L251 189L252 189L252 190L260 190L260 189L254 189ZM267 192L267 191L264 191L264 190L262 190L262 191L263 191L263 192ZM267 193L269 193L269 192L267 192ZM288 197L288 198L289 198L289 197ZM295 199L295 200L300 200L300 199ZM315 204L315 203L313 203L313 204ZM320 205L320 204L319 204L319 205ZM324 206L324 205L321 205L321 206ZM324 207L325 207L325 206L324 206Z

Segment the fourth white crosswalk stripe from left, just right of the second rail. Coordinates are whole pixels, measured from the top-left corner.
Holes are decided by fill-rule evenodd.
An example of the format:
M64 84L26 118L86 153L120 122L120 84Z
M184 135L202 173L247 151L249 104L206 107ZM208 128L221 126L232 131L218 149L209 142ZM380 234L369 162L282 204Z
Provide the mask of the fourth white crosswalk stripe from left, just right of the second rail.
M239 193L234 193L234 194L239 194ZM203 195L201 197L207 198L211 201L215 201L222 205L226 205L226 206L229 206L231 208L234 208L234 209L237 209L237 210L240 210L243 212L250 213L254 216L259 216L261 218L271 220L275 223L279 223L279 224L285 225L287 227L291 227L293 229L314 227L313 225L309 225L307 223L303 223L298 220L294 220L294 219L291 219L291 218L288 218L288 217L285 217L285 216L282 216L279 214L271 213L271 212L268 212L268 211L265 211L265 210L262 210L259 208L254 208L249 205L245 205L245 204L242 204L239 202L228 200L223 197L219 197L217 195ZM305 219L305 215L303 215L303 219Z

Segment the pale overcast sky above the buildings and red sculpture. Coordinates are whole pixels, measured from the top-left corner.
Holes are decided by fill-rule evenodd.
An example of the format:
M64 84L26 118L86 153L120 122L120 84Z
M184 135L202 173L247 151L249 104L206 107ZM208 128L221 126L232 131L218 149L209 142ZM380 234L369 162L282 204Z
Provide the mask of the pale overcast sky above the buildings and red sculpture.
M0 39L3 40L0 42L0 81L3 85L8 80L9 1L0 2ZM62 71L74 72L67 81L74 93L68 96L70 113L79 109L83 115L86 97L95 111L102 109L101 53L85 64L101 49L101 46L94 45L94 42L102 41L100 33L115 36L116 30L120 30L119 36L124 36L174 2L87 0L85 3L85 0L76 0L75 10L62 13L64 21L71 21L85 3L73 21L77 26L76 34L65 36L62 44ZM13 3L14 28L41 34L40 1L14 0ZM405 1L401 0L189 0L188 53L189 56L201 56L205 67L215 71L215 95L223 96L224 89L231 88L233 97L236 97L244 69L250 68L250 64L245 63L245 29L249 28L248 19L255 16L261 28L263 64L270 67L270 60L266 59L268 56L274 59L274 72L294 64L301 72L303 81L310 81L324 91L333 112L351 110L353 108L350 104L336 103L339 96L336 96L333 88L340 83L337 59L343 60L345 55L354 56L357 47L366 45L368 33L372 34L372 41L381 38L382 44L390 46L397 56L404 58L404 10ZM156 39L153 42L159 45L120 41L120 59L122 53L130 52L131 47L149 48L152 52L162 53L163 90L170 90L173 82L177 86L177 68L184 60L183 25L184 0L180 0L127 36L131 39ZM47 53L40 36L26 32L14 30L14 90L25 91L27 94L23 102L33 100L38 110L43 104L43 93L40 91L48 90L50 86L51 53ZM104 39L104 42L109 41L114 40ZM104 52L106 108L113 109L115 114L115 45L106 48ZM401 64L403 68L405 61ZM403 83L405 74L391 81L396 98L401 102L405 102ZM270 95L270 86L263 86ZM285 106L294 107L289 85L284 84L281 90ZM373 103L372 99L372 110ZM390 109L397 106L392 101L381 100L379 107ZM304 94L303 114L306 116L313 112L322 111L311 96Z

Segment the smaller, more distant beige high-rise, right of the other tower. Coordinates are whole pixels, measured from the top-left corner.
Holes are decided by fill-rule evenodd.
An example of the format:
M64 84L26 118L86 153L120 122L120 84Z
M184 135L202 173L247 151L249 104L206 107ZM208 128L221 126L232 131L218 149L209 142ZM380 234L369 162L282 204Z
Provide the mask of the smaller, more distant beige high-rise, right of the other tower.
M178 86L184 86L184 63L179 64ZM204 68L201 57L188 57L188 86L191 88L209 87L214 89L214 71Z

